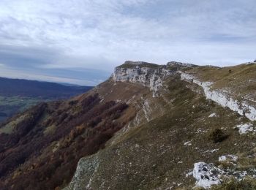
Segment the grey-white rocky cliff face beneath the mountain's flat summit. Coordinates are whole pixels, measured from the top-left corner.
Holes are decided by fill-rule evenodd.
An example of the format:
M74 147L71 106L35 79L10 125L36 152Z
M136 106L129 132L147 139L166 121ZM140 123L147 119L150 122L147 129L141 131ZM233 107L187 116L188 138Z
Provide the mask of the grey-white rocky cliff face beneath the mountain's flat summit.
M174 73L173 70L167 69L167 66L155 66L141 61L127 61L122 66L115 68L112 77L116 82L140 83L143 86L148 86L153 91L153 96L157 96L163 79Z

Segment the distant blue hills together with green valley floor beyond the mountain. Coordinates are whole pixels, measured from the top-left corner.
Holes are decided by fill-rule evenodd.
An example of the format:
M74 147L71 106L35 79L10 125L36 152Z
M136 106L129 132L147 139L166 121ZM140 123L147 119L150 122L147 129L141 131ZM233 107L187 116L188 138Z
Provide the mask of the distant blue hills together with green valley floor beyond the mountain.
M69 99L91 88L91 86L64 86L58 83L0 77L0 122L39 102Z

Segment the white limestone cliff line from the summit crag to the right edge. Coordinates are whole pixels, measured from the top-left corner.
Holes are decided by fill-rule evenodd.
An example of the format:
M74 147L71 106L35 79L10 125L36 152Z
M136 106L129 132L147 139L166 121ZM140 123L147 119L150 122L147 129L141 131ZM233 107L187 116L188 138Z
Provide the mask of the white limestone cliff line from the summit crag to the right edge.
M185 67L194 67L193 64L184 64L176 61L168 62L167 65L149 64L143 61L132 62L126 61L123 65L117 66L113 73L114 81L140 83L148 86L153 91L153 97L157 96L159 88L163 84L165 77L174 75L176 72L181 74L181 80L197 84L203 88L207 99L211 99L222 107L228 107L230 110L244 115L251 121L256 120L255 101L241 96L239 101L232 96L232 92L225 89L211 89L211 82L201 82L197 77L181 72Z

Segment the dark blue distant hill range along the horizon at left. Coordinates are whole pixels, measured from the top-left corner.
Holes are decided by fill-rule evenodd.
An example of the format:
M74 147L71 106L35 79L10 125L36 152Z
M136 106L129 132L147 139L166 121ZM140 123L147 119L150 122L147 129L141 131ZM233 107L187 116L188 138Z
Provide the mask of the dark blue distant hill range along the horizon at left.
M0 96L26 96L42 99L67 99L89 91L91 86L67 86L59 83L0 77Z

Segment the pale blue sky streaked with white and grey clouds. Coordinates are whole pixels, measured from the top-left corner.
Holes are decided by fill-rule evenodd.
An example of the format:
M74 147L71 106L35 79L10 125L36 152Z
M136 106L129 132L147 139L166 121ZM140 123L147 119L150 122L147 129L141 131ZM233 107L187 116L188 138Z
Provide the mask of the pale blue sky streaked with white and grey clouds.
M255 0L1 0L0 76L94 86L124 61L256 59Z

